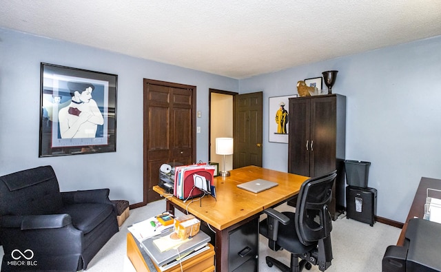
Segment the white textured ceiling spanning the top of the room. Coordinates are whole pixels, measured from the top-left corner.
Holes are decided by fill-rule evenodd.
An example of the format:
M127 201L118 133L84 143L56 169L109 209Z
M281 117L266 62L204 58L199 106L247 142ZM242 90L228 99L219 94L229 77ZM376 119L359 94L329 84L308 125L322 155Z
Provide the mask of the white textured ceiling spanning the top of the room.
M441 35L441 0L0 0L0 27L244 79Z

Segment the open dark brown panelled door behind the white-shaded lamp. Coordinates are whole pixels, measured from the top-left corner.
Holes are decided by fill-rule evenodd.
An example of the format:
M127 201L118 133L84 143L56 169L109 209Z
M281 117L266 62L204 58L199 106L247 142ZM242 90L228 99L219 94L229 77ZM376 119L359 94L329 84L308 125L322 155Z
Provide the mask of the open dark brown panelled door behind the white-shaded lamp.
M233 168L262 167L262 101L263 92L235 97Z

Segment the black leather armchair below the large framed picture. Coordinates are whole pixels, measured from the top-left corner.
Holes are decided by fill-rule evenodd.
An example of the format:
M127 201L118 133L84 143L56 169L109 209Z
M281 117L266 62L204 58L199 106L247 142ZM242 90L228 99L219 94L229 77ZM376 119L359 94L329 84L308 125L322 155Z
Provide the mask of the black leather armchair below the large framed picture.
M60 192L50 166L0 177L1 271L86 269L119 231L109 189Z

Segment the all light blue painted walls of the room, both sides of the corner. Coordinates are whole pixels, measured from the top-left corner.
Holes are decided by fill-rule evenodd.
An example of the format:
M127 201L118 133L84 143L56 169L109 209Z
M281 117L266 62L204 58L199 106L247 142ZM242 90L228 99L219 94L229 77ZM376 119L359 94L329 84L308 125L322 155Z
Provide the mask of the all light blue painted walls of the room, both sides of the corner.
M40 63L118 74L117 151L38 158ZM110 188L143 198L143 79L197 87L197 160L208 159L208 90L263 91L263 167L287 171L287 144L268 142L268 98L338 70L347 96L347 159L370 161L377 215L404 222L422 176L441 178L441 37L236 80L0 28L0 175L52 165L62 191Z

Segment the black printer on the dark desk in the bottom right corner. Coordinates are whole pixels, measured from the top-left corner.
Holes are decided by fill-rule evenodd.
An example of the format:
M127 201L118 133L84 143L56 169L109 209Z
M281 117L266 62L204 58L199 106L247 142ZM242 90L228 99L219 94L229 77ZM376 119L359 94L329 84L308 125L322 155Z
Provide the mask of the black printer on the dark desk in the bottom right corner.
M409 220L404 245L389 246L383 272L441 271L441 224L420 218Z

